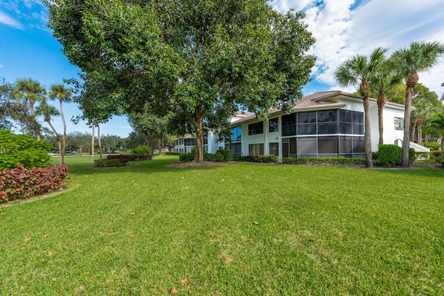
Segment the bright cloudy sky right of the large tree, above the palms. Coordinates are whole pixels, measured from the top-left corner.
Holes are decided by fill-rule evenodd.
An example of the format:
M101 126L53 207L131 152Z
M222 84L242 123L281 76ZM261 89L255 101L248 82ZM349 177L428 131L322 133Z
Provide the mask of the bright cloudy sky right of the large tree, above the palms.
M391 53L413 41L444 43L442 0L422 1L420 5L414 0L370 0L358 6L355 0L280 0L271 4L279 11L305 11L309 31L316 37L312 53L317 60L312 75L335 89L339 87L334 70L352 55L367 55L378 46ZM420 82L437 94L443 92L443 67L441 58L429 72L420 73Z

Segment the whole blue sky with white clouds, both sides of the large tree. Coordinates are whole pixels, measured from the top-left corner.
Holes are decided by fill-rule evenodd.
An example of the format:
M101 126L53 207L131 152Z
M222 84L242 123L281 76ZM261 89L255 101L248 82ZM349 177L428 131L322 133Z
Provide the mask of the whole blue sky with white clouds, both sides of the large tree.
M316 37L311 53L317 56L313 80L304 94L341 89L334 69L355 54L368 54L378 46L389 52L413 41L444 43L443 0L274 0L280 12L305 11L309 31ZM62 78L76 78L79 69L69 64L61 46L46 27L48 12L40 0L0 0L0 78L15 82L33 78L49 88ZM444 92L444 59L431 71L420 73L420 82L438 95ZM342 89L354 92L355 89ZM56 102L52 103L58 107ZM64 108L67 119L80 114L75 104ZM56 130L62 130L59 117ZM68 132L89 132L85 123L68 123ZM101 125L101 134L128 137L131 128L124 117Z

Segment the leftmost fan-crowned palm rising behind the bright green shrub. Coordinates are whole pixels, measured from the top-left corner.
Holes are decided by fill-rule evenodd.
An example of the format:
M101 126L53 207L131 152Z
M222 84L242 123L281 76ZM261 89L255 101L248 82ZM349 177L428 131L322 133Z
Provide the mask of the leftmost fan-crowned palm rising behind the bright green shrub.
M37 123L34 105L38 101L46 100L46 89L40 85L40 82L31 78L17 80L17 82L15 82L15 89L17 90L15 96L17 96L17 98L21 98L29 104L31 116L33 116L35 122ZM37 131L36 138L37 140L40 140L40 131Z

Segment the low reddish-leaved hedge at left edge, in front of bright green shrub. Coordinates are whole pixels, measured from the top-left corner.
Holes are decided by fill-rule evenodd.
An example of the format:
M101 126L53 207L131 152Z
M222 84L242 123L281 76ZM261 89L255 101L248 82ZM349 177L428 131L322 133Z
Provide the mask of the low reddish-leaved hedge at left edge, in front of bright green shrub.
M0 202L28 199L62 189L61 185L68 178L68 172L66 164L31 169L19 165L17 168L0 171Z

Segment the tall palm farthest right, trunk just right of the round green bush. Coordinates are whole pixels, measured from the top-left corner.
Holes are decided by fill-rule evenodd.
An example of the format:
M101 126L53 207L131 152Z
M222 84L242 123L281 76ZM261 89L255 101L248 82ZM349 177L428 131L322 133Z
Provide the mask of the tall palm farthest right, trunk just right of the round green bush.
M436 64L438 58L444 55L444 45L438 42L412 42L409 48L395 51L398 71L404 76L405 111L404 111L404 139L402 140L402 163L401 166L408 168L410 148L410 114L413 89L418 83L418 72L430 69Z

